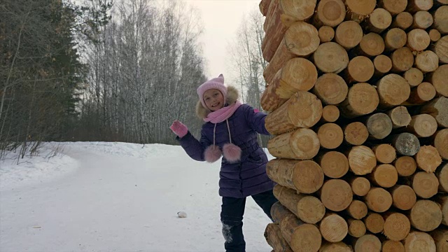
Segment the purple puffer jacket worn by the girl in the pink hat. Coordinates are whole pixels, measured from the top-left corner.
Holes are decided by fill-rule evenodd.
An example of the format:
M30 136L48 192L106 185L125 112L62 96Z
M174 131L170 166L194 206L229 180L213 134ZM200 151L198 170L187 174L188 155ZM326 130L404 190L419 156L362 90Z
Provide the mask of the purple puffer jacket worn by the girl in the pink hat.
M257 132L269 134L265 129L266 114L255 113L247 104L239 106L228 119L232 144L241 148L241 161L229 163L222 159L219 173L219 195L223 197L247 197L274 188L274 182L266 174L267 156L258 146ZM186 153L197 161L204 161L204 150L213 144L214 123L202 125L202 137L197 141L190 132L179 140ZM229 133L225 123L216 124L216 145L222 150L228 144Z

